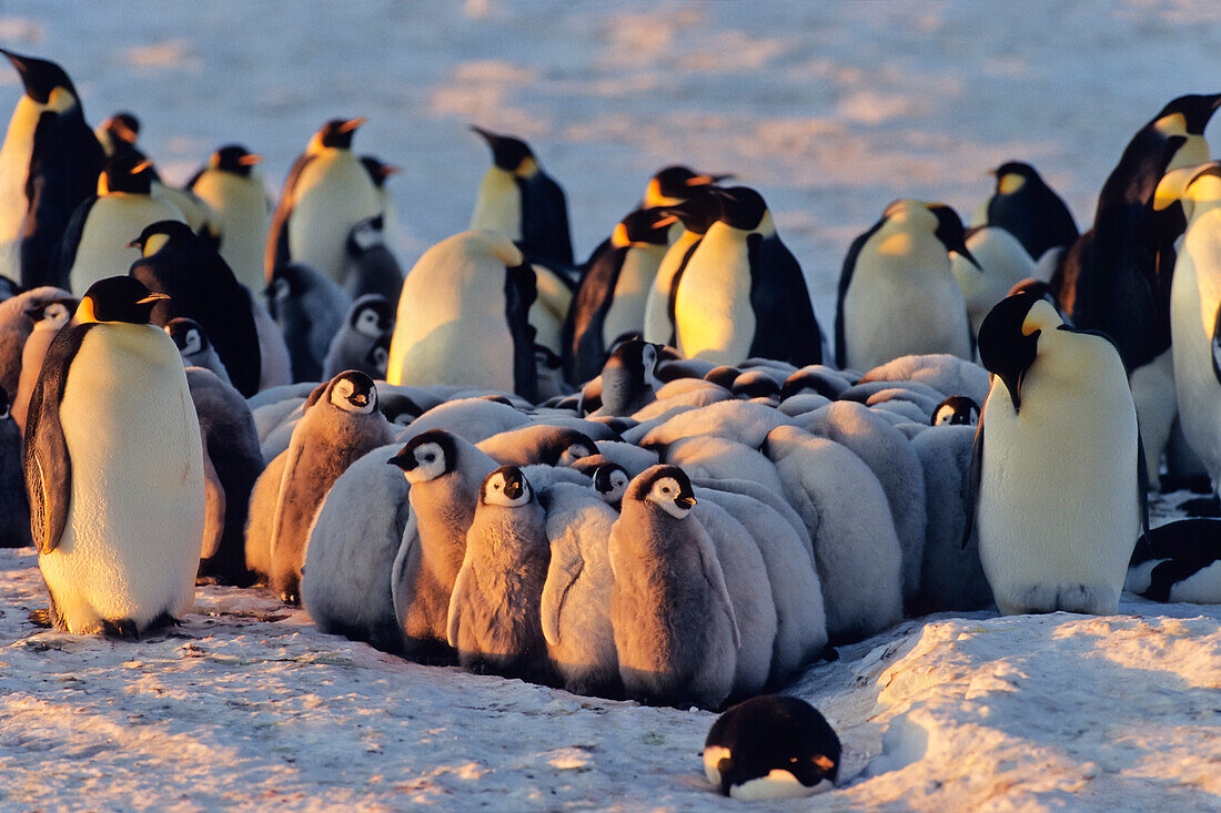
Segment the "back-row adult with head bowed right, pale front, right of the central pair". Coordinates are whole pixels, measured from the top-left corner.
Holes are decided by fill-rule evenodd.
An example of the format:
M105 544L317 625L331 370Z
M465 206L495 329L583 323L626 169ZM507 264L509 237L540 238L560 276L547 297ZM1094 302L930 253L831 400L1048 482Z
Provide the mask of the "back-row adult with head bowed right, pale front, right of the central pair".
M973 356L950 251L974 262L962 221L945 204L900 199L844 259L835 308L835 364L869 370L916 353Z

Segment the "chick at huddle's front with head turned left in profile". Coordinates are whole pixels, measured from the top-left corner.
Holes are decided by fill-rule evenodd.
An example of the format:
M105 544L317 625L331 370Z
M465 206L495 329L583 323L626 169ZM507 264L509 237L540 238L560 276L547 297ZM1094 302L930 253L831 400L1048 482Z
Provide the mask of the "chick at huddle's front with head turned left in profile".
M404 654L442 659L448 654L449 597L466 552L480 485L497 463L457 435L416 435L387 460L410 483L411 518L391 570L394 616Z

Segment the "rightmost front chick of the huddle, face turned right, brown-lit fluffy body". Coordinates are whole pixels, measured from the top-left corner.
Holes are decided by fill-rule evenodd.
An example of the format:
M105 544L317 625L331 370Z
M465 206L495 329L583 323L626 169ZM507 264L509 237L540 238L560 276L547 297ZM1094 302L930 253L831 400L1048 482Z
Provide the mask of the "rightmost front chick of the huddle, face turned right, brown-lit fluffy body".
M610 529L610 621L628 697L717 708L734 687L741 640L694 507L691 481L676 466L631 481Z

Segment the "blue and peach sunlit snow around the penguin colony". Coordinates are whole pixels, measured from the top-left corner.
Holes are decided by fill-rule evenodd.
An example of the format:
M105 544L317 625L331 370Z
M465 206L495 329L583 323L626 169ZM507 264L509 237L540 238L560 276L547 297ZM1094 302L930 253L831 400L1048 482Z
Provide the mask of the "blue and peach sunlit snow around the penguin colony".
M369 116L358 149L404 167L405 265L466 225L473 122L531 142L579 255L656 168L736 172L827 330L893 198L967 216L1020 157L1087 225L1131 134L1219 89L1219 34L1221 6L1187 0L0 5L0 43L60 61L92 122L137 112L170 179L237 140L278 184L322 121ZM139 643L39 631L44 601L32 552L0 552L2 809L739 806L702 778L709 713L409 664L259 591L200 588ZM845 648L791 688L839 730L844 787L778 807L1216 809L1221 608L1121 613L937 616Z

